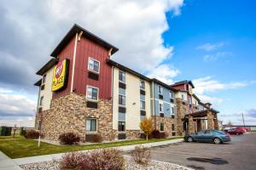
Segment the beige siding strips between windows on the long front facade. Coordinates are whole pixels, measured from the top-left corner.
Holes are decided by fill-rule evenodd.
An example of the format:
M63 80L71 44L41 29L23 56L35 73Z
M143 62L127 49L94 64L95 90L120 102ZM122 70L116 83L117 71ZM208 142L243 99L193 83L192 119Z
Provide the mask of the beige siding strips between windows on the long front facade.
M126 130L139 130L140 116L140 78L125 72L125 127ZM150 116L150 84L145 81L145 110ZM118 129L119 116L119 69L113 69L113 129Z

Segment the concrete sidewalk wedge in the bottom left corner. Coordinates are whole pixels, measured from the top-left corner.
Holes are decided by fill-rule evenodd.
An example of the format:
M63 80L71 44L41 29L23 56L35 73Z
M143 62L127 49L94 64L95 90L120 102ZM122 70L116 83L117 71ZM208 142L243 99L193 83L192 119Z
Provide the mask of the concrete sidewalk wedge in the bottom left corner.
M8 156L5 156L2 151L0 151L0 170L22 170L14 160L9 158Z

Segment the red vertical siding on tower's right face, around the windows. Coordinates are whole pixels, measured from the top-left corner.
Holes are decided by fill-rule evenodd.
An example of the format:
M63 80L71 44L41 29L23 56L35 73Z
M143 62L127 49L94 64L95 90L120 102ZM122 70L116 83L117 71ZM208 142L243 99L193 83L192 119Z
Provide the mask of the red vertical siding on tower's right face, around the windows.
M100 61L99 80L88 78L89 57ZM99 88L100 99L111 98L112 69L106 63L108 49L92 42L84 37L77 44L76 64L74 72L73 89L77 94L86 94L86 85Z

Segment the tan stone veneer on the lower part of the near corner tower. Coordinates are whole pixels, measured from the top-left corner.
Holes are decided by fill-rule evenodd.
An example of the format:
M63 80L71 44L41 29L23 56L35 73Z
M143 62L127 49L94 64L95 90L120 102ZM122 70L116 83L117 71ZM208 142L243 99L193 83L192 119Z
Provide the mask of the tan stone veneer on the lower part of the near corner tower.
M78 133L85 139L85 119L97 119L97 132L102 139L108 140L108 134L114 133L112 119L112 100L99 99L98 109L86 107L86 99L78 94L67 94L51 101L48 111L38 113L36 119L42 120L42 133L45 139L57 140L61 133Z

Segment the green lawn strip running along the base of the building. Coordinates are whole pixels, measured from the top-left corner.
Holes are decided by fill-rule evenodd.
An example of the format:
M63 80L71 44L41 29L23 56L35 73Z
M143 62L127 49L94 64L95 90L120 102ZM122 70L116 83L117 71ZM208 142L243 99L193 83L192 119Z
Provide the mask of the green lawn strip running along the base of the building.
M28 156L41 156L48 154L63 153L76 150L92 150L96 148L107 148L131 144L145 144L150 142L159 142L172 139L181 139L183 137L173 137L171 139L136 139L125 140L102 144L86 144L86 145L54 145L42 142L38 148L38 141L32 139L0 139L0 150L11 158L20 158Z

